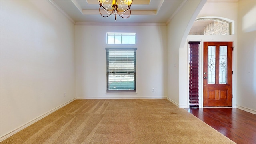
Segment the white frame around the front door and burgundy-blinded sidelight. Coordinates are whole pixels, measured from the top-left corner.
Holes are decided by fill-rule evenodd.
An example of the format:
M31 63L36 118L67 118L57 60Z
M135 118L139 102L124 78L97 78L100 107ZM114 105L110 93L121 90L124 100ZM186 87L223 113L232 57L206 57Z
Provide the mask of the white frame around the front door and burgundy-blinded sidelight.
M203 36L203 35L202 35ZM189 41L197 41L200 42L199 44L199 108L208 108L203 106L203 59L204 59L204 42L233 42L233 46L236 45L234 42L233 38L228 38L228 39L211 39L211 40L206 40L203 37L200 39L187 39L186 41L186 46L187 46L187 108L189 108ZM234 50L232 51L232 69L233 69L233 76L232 76L232 108L236 108L236 47L234 47ZM218 107L217 107L218 108Z

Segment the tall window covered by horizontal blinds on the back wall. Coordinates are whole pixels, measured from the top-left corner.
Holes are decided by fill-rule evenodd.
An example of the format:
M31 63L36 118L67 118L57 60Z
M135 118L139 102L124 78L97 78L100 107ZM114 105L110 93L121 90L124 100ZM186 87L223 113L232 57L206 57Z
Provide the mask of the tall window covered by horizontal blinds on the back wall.
M136 49L106 48L107 92L136 92Z

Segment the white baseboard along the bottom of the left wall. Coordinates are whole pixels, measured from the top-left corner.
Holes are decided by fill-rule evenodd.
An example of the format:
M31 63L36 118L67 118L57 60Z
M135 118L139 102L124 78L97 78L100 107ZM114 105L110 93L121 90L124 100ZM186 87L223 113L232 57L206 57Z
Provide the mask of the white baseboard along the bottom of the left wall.
M2 136L2 137L0 138L0 142L2 142L3 140L5 140L6 138L9 138L10 136L16 134L17 132L23 130L24 128L30 126L31 124L34 124L34 123L37 122L38 120L41 120L42 118L48 116L49 114L55 112L56 110L58 110L58 109L60 109L60 108L62 108L62 107L64 107L64 106L66 106L67 104L69 104L70 102L73 102L74 100L76 100L76 98L73 98L72 100L70 100L70 101L68 101L68 102L66 102L66 103L64 103L64 104L62 104L62 105L60 105L60 106L58 106L57 108L54 108L53 110L50 110L49 112L46 112L45 114L39 116L38 118L35 118L34 120L31 120L30 122L24 124L23 126L20 126L19 128L16 128L16 129L13 130L12 132L9 132L8 134Z

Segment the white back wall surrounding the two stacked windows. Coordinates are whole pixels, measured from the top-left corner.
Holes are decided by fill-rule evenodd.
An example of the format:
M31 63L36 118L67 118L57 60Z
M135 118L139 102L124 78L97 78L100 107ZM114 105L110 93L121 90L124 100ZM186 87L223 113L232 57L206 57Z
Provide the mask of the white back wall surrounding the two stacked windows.
M166 96L165 25L81 24L75 26L75 31L77 98L164 98ZM106 44L107 32L136 32L136 44ZM137 48L137 94L106 94L106 47Z

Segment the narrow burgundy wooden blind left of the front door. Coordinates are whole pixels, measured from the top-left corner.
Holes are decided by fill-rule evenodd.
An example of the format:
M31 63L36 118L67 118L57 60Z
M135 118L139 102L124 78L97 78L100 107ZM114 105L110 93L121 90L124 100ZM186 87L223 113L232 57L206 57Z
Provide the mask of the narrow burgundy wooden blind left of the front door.
M189 43L189 107L199 107L199 44Z

